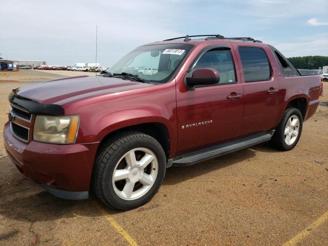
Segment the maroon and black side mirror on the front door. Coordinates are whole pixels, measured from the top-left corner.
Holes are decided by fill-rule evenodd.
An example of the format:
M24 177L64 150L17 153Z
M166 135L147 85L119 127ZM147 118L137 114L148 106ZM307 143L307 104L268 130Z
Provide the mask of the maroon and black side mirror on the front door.
M220 81L220 74L213 68L196 69L191 77L186 77L186 87L190 91L195 90L195 86L215 85Z

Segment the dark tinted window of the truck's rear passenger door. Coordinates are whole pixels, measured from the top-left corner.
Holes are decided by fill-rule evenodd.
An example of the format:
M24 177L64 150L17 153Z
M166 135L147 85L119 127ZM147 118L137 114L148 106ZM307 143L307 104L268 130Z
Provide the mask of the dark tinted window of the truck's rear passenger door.
M271 68L264 50L257 47L239 47L245 82L269 80Z

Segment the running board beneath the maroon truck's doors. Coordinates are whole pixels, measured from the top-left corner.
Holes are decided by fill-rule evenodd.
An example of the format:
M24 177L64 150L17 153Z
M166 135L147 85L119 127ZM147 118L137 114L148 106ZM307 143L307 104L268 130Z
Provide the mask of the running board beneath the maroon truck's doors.
M174 167L185 167L185 166L194 165L204 160L213 159L221 155L229 154L237 150L245 149L253 145L260 144L261 142L269 141L273 136L274 132L275 130L252 135L249 137L240 138L214 147L197 150L173 158L171 163L172 166Z

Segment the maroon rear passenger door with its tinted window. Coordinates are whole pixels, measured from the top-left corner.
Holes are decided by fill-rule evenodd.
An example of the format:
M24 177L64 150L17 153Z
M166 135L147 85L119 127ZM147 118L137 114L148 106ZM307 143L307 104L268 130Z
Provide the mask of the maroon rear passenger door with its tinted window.
M270 48L263 45L234 44L234 49L244 90L243 127L240 135L269 131L275 127L279 105L278 77L273 74L270 64L274 56Z

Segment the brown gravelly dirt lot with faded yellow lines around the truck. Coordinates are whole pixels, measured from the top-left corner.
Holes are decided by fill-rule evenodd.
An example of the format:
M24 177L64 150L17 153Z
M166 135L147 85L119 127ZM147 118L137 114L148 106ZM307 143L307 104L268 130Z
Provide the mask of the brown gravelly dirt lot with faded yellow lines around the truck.
M0 73L0 124L11 89L72 74ZM0 244L327 245L328 83L324 90L294 150L261 144L170 168L156 196L127 212L106 209L93 197L68 201L48 194L16 170L1 137Z

